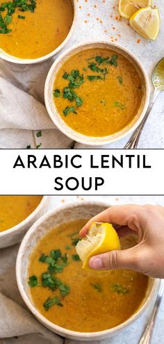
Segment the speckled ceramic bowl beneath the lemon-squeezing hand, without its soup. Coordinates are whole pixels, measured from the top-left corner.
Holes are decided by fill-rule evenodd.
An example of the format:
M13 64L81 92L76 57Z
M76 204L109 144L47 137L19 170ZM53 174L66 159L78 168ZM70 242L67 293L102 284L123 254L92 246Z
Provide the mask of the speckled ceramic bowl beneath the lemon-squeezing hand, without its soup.
M82 218L92 218L92 216L97 213L104 211L109 205L101 202L76 202L72 204L67 204L66 206L61 206L56 208L53 211L50 211L46 215L42 216L40 220L35 222L31 229L29 229L26 236L22 241L22 244L19 248L17 256L17 265L16 265L16 274L17 274L17 285L19 292L22 295L22 298L28 306L28 309L31 310L33 315L48 329L54 331L60 336L67 338L72 338L77 341L98 341L100 339L108 338L118 334L119 331L123 331L128 327L131 322L136 320L144 311L148 308L149 304L154 301L158 293L159 281L157 279L150 279L149 288L147 290L147 295L145 300L142 302L140 309L131 316L126 322L114 327L112 329L107 329L106 331L85 333L78 331L71 331L58 325L53 324L35 308L33 301L31 300L30 290L28 288L28 263L33 252L33 248L38 244L40 238L46 235L51 229L55 229L60 224L65 222L78 220ZM78 306L78 305L77 305ZM80 320L79 320L80 321Z

